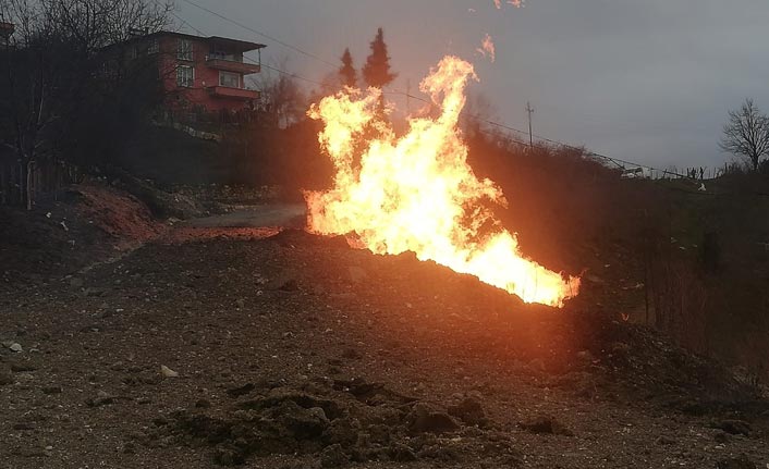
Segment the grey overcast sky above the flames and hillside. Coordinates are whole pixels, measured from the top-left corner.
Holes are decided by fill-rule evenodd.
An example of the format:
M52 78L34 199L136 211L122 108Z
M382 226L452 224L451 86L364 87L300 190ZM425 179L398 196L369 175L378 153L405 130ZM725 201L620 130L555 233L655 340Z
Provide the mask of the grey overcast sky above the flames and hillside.
M767 0L194 1L333 64L350 47L359 66L381 26L393 88L408 81L414 90L456 54L475 64L480 83L471 91L500 121L525 129L530 101L535 134L662 168L723 164L728 110L753 97L769 111ZM315 81L333 70L185 0L176 5L207 35L266 44L265 63ZM486 34L493 63L476 52Z

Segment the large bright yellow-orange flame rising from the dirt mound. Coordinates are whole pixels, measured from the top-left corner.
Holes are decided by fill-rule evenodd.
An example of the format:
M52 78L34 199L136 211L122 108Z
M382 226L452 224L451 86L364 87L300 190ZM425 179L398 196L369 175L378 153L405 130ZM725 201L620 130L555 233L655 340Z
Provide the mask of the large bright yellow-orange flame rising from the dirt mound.
M347 88L313 104L308 115L325 123L319 140L337 173L332 189L305 194L309 229L355 233L374 252L411 250L524 301L561 307L579 279L564 280L521 255L488 208L506 203L502 192L467 164L456 124L471 77L477 79L473 65L443 58L420 84L440 115L410 119L400 138L381 119L378 89Z

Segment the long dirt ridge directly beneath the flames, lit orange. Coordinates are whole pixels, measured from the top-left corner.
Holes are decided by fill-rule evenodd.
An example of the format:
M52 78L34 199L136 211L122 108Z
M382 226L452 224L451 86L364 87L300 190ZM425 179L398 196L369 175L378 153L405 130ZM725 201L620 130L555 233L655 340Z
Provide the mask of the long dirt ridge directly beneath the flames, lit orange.
M329 292L353 307L374 301L394 311L420 311L403 324L403 336L413 337L410 330L416 329L422 335L413 340L434 346L528 361L554 373L554 386L590 395L596 386L619 385L623 393L644 399L654 396L667 406L700 412L734 408L735 403L756 397L755 387L735 380L718 361L675 346L648 328L618 320L611 312L596 311L589 292L563 309L524 305L473 275L419 261L413 252L340 251L347 246L343 237L303 231L283 231L263 243L270 242L303 259L304 269L291 274L300 291ZM308 262L306 256L315 260ZM584 373L590 377L587 381Z

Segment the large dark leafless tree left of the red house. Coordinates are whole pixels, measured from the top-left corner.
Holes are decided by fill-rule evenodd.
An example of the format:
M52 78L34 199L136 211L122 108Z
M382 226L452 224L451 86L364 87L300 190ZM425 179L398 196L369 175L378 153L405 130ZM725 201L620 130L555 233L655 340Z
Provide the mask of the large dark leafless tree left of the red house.
M33 173L57 146L87 148L74 133L94 120L115 83L106 46L170 25L172 4L155 0L0 0L0 21L15 34L0 54L0 146L19 163L20 199L32 209ZM109 52L113 53L113 52ZM103 108L102 108L103 109ZM91 132L91 137L103 138Z

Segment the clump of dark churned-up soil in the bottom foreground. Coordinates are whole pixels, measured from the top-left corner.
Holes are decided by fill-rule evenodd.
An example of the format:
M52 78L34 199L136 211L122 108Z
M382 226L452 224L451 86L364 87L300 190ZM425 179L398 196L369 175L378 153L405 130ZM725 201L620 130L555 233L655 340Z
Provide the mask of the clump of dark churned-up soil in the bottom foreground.
M483 429L468 424L381 383L317 380L305 387L276 387L231 404L223 415L181 410L168 431L184 444L210 446L223 466L272 454L314 455L321 467L467 457L508 465L518 459L512 441L497 435L497 443L488 444L497 430L486 419ZM463 400L452 408L465 407ZM483 415L479 403L471 407L471 414Z

